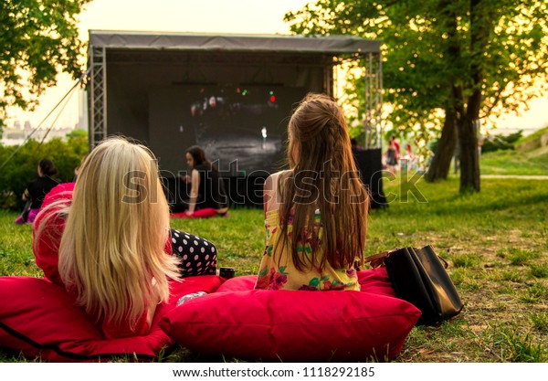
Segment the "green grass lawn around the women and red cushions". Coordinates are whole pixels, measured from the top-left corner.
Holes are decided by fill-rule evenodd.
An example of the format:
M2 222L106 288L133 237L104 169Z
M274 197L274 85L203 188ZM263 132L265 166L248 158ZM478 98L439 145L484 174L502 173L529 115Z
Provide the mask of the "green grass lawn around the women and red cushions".
M385 183L392 202L369 217L366 255L431 244L448 260L464 310L439 327L416 327L395 362L548 361L548 181L482 179L477 195L458 194L458 179L438 184ZM402 185L403 184L403 185ZM31 228L0 211L0 275L41 276ZM174 220L209 238L218 266L258 271L262 211L234 209L228 218ZM20 361L0 351L0 361ZM163 361L223 361L175 348Z

